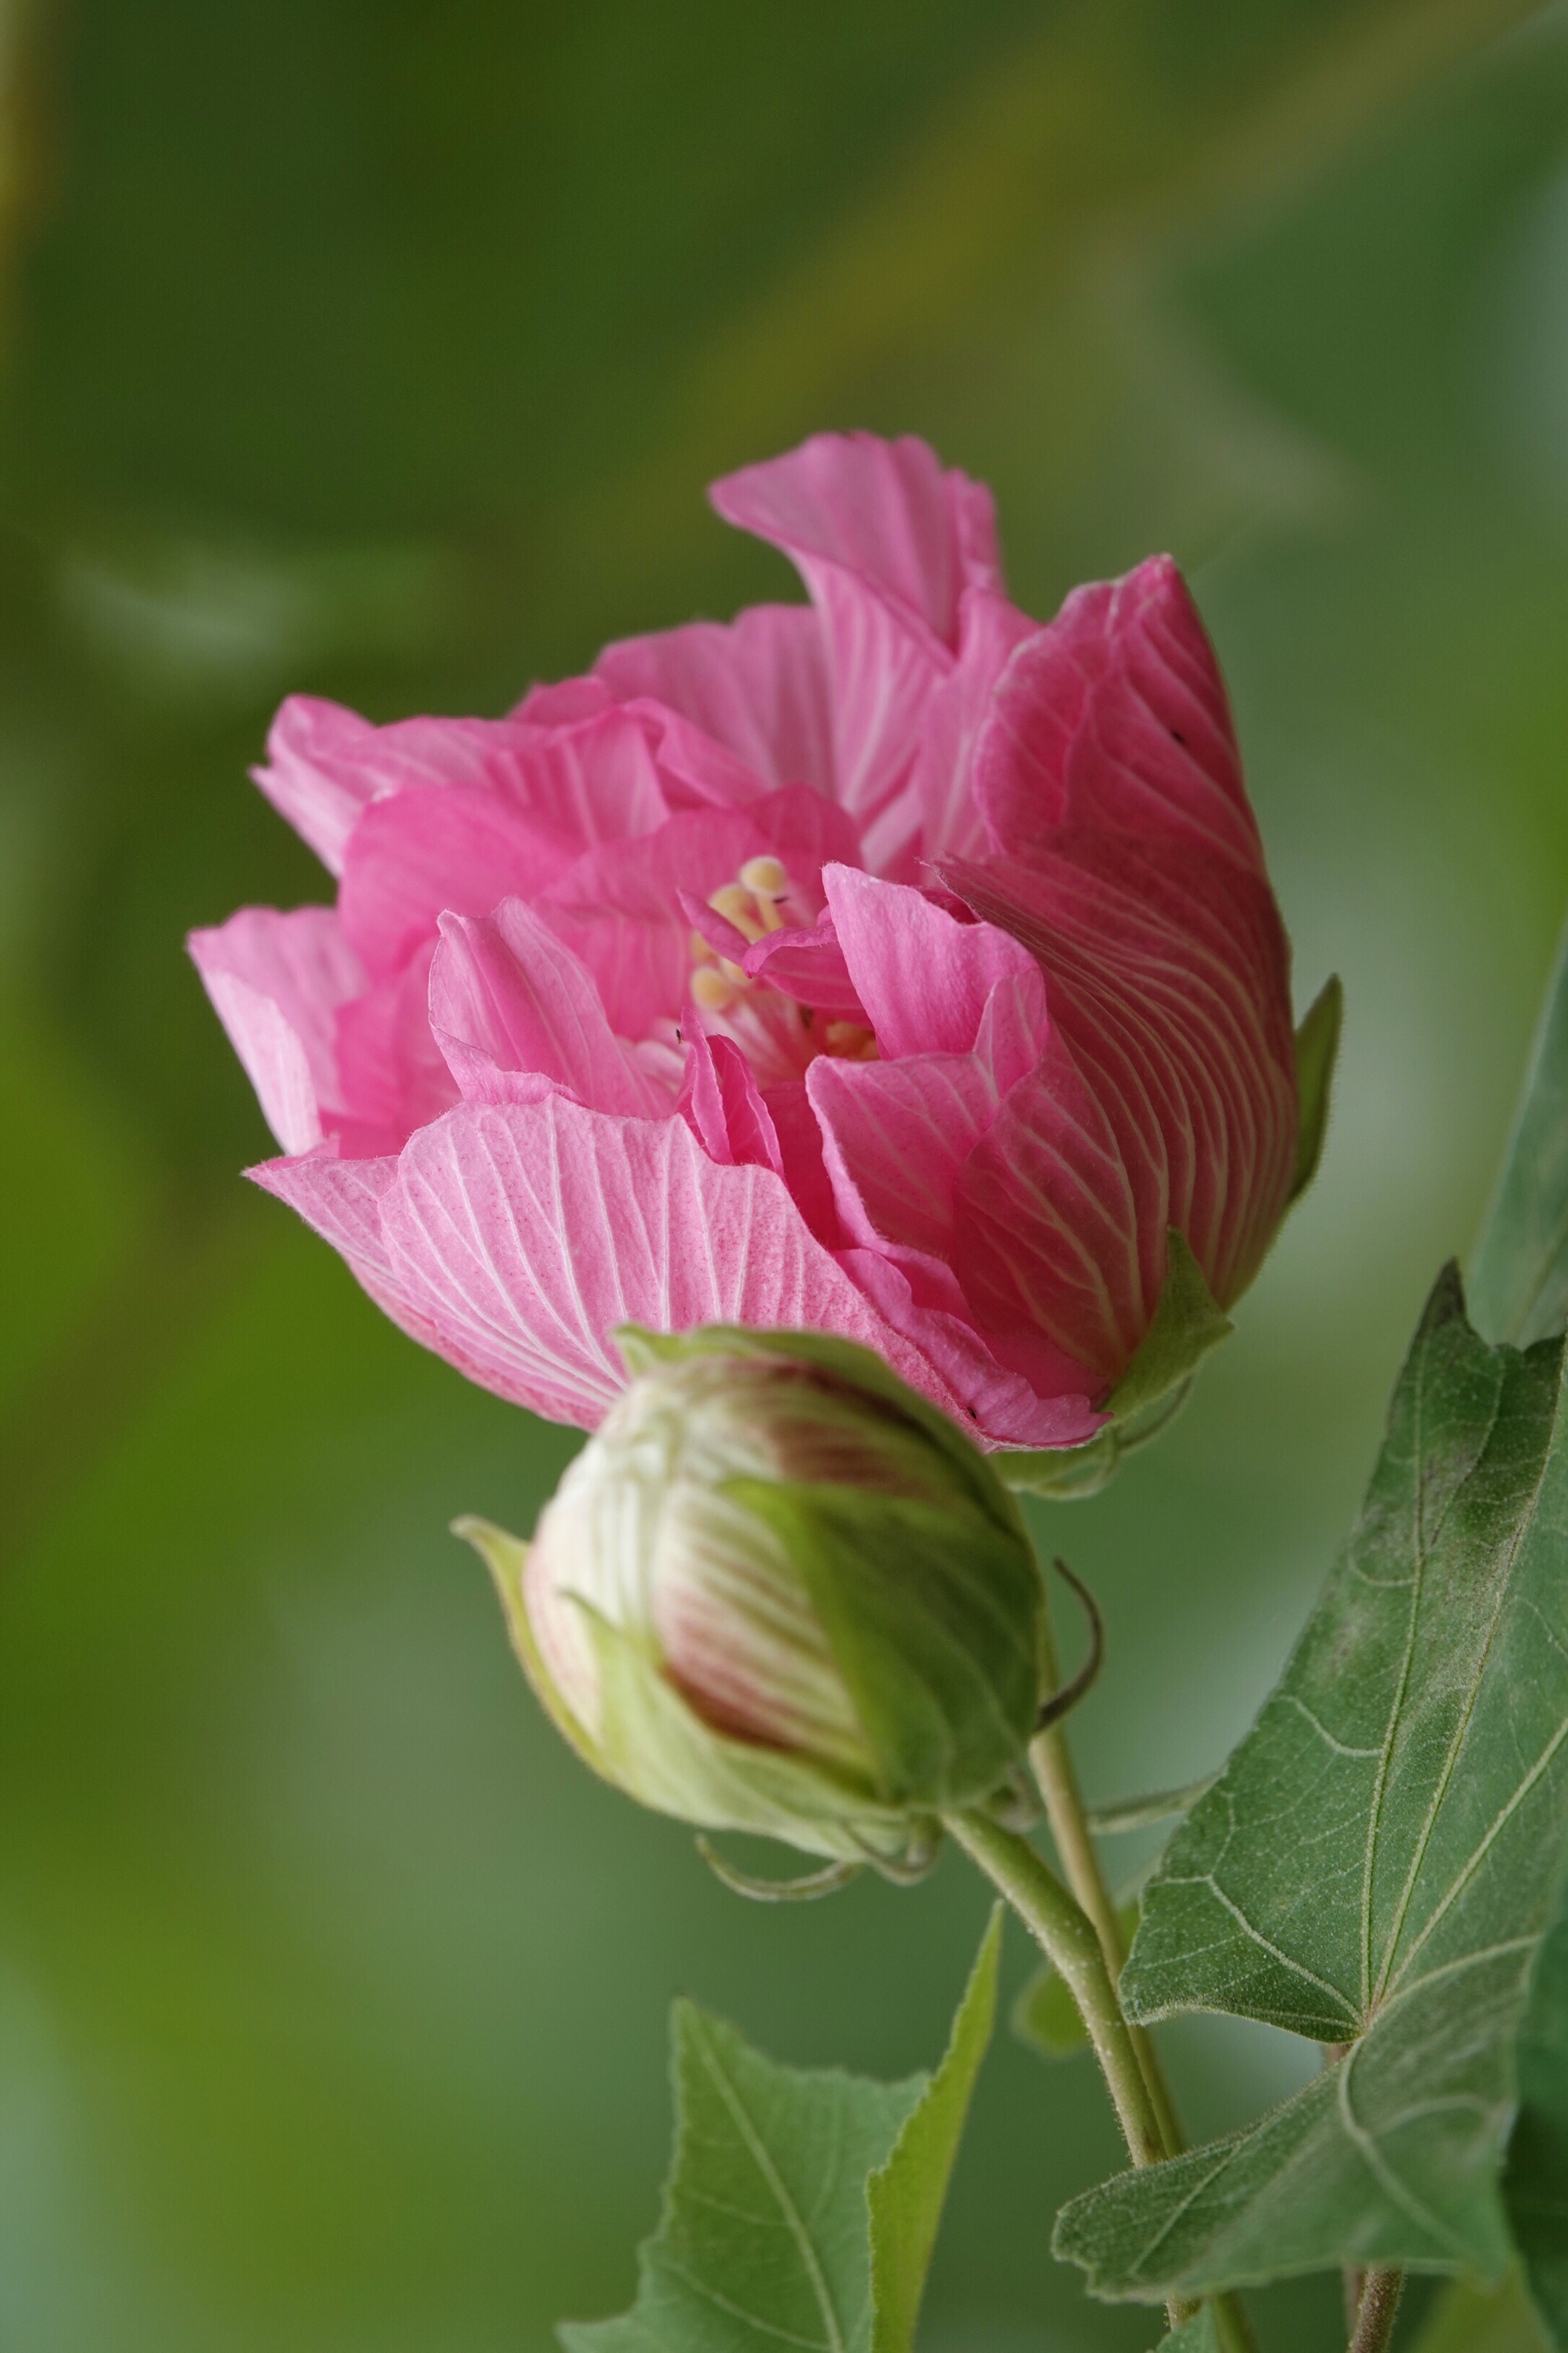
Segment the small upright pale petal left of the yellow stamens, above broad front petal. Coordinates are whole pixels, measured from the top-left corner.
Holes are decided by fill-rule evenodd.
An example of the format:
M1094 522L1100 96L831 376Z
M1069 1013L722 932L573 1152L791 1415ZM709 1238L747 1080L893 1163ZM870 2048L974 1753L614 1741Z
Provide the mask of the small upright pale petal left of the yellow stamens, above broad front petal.
M531 1101L545 1078L595 1111L651 1120L670 1096L604 1019L590 974L522 899L442 915L430 1028L468 1101ZM524 1080L524 1087L517 1085Z

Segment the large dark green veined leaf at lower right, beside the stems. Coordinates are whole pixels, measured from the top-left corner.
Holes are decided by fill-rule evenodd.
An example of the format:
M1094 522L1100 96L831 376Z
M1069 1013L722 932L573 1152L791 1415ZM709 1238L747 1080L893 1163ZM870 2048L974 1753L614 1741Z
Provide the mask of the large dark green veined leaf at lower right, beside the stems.
M1488 1348L1439 1280L1347 1553L1121 1979L1140 2021L1220 2009L1347 2052L1260 2125L1074 2200L1058 2249L1098 2294L1509 2264L1512 2040L1568 1817L1561 1355Z

